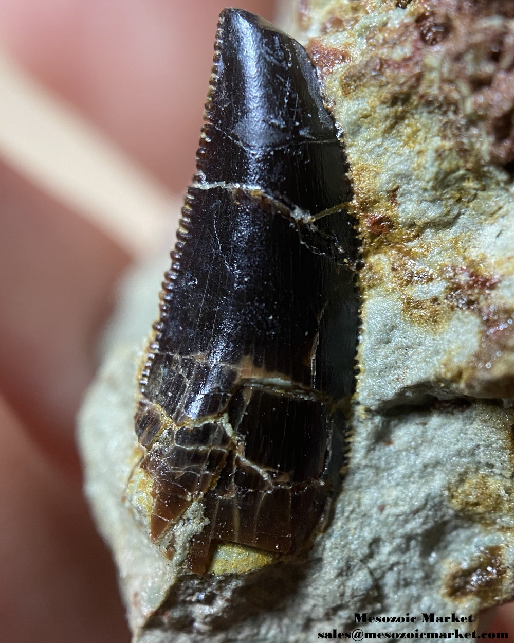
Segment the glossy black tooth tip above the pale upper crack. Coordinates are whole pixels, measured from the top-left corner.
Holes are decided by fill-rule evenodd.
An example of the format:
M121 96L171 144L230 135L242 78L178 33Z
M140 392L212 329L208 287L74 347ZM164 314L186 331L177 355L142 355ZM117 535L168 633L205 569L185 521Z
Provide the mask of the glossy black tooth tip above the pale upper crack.
M258 186L313 214L350 201L346 158L305 49L244 11L223 12L220 30L204 180Z

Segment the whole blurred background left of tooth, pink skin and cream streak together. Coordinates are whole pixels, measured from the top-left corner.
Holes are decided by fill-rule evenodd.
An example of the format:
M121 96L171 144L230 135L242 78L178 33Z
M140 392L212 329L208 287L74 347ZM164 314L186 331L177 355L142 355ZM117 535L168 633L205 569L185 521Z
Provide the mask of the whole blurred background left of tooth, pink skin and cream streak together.
M276 15L272 0L238 6ZM0 0L4 643L129 641L82 498L75 413L116 280L172 245L222 8ZM508 631L510 608L494 618Z

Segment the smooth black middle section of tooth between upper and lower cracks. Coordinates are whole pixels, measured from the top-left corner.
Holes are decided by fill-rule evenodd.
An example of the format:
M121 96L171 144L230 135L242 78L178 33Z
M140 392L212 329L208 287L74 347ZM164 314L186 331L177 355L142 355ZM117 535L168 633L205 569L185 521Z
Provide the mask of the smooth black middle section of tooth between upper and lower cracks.
M165 368L169 378L177 356L204 354L201 366L196 361L186 366L188 379L192 369L206 365L209 370L224 370L225 377L214 378L222 395L232 390L233 378L230 368L220 365L235 365L251 356L254 365L301 386L333 397L348 395L351 382L346 382L346 392L342 390L341 372L352 372L354 352L343 349L338 329L348 316L341 300L353 300L348 267L312 252L301 242L296 224L277 213L264 197L220 187L190 188L190 196L194 197L190 241L166 298L173 314L161 333L162 352L155 357L155 366ZM182 293L187 293L187 305ZM335 293L339 301L333 310L330 302ZM314 353L314 359L324 360L326 367L314 370L318 320L324 324L327 313L330 323ZM338 313L341 318L334 319ZM334 349L330 355L325 355L327 342ZM181 403L168 395L173 386L179 385L168 379L158 397L170 415L177 406L188 406L184 396L194 404L199 394L190 386ZM188 415L199 417L193 410Z

